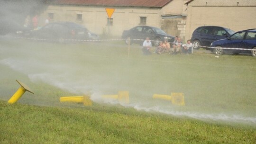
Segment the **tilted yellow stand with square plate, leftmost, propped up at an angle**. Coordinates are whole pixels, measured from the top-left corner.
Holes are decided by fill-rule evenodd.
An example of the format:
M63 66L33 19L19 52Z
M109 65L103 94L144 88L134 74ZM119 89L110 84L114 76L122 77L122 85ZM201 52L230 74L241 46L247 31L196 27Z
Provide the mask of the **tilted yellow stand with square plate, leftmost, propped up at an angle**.
M31 92L34 94L34 92L32 92L26 84L16 80L18 82L18 84L21 86L16 92L15 94L8 100L9 104L13 104L16 103L18 101L18 99L26 92Z

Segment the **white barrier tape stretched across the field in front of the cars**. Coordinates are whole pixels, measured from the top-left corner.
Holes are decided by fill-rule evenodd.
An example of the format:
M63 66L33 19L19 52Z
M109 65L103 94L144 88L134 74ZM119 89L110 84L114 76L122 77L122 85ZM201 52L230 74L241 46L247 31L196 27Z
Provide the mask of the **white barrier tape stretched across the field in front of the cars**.
M83 40L83 39L42 39L42 38L29 38L29 37L15 37L15 38L21 38L21 39L30 39L30 40L40 40L40 41L56 41L56 42L64 42L64 41L74 41L74 42L100 42L100 41L119 41L119 40L126 40L124 38L118 38L118 39L98 39L98 40ZM130 40L136 40L136 41L145 41L145 39L130 39ZM151 42L156 42L155 40L149 40ZM163 41L158 41L163 42ZM169 43L169 42L168 42ZM170 43L170 44L177 44L177 43ZM183 44L183 43L180 43ZM210 47L210 46L202 46L198 45L198 47L204 47L204 48L213 48L213 49L228 49L228 50L248 50L248 51L256 51L256 49L247 49L247 48L230 48L230 47Z

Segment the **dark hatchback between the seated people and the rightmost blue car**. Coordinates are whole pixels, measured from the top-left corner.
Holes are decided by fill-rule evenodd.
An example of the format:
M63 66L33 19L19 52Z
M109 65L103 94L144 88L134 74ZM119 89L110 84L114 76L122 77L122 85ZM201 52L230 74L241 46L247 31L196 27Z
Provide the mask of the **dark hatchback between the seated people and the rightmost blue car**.
M227 38L228 36L234 34L235 31L218 26L202 26L198 27L192 33L192 44L194 49L199 49L201 46L210 46L213 41ZM210 48L206 48L210 49Z

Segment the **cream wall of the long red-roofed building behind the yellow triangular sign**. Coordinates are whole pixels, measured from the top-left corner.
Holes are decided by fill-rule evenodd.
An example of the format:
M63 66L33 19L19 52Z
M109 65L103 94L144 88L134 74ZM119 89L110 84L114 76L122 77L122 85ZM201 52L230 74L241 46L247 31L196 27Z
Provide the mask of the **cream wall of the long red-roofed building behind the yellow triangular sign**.
M123 30L140 25L140 17L146 17L146 25L161 27L160 9L157 8L126 8L110 7L115 9L111 18L113 25L108 26L108 15L105 7L93 6L48 6L40 17L47 18L48 13L54 13L51 21L72 21L87 27L96 34L121 36ZM82 20L77 21L77 14L82 14Z

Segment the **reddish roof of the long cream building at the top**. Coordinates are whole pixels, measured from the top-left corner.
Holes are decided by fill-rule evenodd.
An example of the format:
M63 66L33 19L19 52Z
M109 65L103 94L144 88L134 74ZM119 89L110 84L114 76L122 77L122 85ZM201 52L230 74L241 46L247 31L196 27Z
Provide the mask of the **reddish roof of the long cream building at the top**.
M47 4L162 8L172 0L46 0Z

